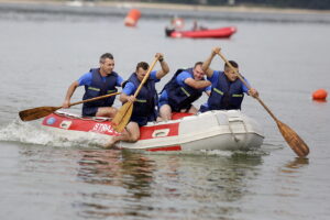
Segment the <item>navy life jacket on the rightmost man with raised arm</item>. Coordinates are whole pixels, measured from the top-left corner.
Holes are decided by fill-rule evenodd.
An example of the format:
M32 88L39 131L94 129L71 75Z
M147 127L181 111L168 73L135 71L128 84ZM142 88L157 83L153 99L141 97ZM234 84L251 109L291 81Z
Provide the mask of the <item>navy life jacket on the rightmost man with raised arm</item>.
M241 109L244 94L242 81L229 81L223 72L220 72L217 85L212 85L208 99L209 110Z

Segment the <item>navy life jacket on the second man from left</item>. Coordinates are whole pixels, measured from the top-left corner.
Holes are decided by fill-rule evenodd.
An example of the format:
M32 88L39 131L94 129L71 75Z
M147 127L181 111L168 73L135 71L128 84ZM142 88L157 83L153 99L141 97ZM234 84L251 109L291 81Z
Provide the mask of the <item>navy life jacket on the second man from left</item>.
M138 78L136 73L133 73L130 78L123 82L123 88L125 84L130 81L135 88L140 86L141 81ZM143 87L141 88L136 100L133 103L132 118L138 117L140 119L145 118L146 121L155 121L157 117L156 103L158 101L157 91L155 88L155 80L148 78Z

